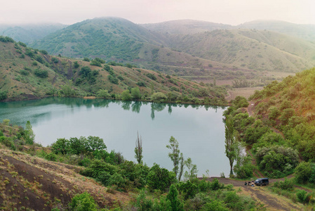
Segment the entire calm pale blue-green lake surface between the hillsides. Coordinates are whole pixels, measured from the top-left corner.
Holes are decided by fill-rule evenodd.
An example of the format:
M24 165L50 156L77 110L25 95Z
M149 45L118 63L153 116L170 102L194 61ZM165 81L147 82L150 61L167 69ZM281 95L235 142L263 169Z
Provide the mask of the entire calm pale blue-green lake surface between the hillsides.
M135 161L137 131L142 136L144 162L172 170L166 148L170 136L180 143L185 158L192 158L199 176L229 175L224 154L221 107L142 103L132 101L45 98L38 101L0 103L0 120L25 126L29 120L35 141L47 146L58 138L100 136L107 150Z

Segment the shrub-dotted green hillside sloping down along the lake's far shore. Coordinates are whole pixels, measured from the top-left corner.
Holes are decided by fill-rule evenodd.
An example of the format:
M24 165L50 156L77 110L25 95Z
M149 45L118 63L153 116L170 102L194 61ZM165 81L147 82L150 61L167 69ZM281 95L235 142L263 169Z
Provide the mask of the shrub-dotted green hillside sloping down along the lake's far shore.
M225 103L224 88L201 86L130 64L105 64L100 58L84 61L50 56L9 37L0 37L0 44L0 100L54 95L120 99L123 91L139 88L142 96L136 99L150 100L152 94L161 92L168 94L161 101L202 103L199 99L207 98L205 103Z

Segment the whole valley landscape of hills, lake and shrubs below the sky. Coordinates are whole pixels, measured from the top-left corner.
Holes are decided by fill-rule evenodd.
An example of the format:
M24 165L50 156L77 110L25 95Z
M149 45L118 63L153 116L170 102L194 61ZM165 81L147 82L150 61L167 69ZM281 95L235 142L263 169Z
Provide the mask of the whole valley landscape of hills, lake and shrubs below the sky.
M0 33L0 210L314 209L314 25Z

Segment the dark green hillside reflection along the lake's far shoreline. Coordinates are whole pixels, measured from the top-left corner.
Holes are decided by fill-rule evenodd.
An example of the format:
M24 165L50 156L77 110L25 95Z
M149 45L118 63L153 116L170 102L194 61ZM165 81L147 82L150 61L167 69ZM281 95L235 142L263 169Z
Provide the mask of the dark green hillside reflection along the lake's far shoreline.
M0 117L1 120L10 119L13 124L18 124L21 126L25 125L27 120L37 123L40 120L50 119L52 115L52 110L55 116L62 116L67 113L74 113L75 109L82 108L84 106L87 110L92 110L93 108L108 108L110 103L121 105L123 110L131 110L133 113L140 113L142 106L150 104L151 107L151 119L154 120L156 113L168 109L168 113L173 112L173 108L184 107L184 108L194 108L198 110L199 108L209 108L224 109L224 106L201 106L192 104L174 104L174 103L149 103L141 101L114 101L114 100L104 100L104 99L83 99L83 98L43 98L41 100L34 101L18 101L18 102L4 102L0 103ZM56 106L59 109L55 109ZM65 108L64 106L67 106Z

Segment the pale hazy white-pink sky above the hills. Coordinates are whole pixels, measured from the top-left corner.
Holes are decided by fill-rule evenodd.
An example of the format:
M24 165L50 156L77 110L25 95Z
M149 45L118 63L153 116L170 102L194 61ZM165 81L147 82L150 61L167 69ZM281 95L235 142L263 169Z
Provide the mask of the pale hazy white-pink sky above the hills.
M133 23L194 19L315 24L315 0L0 0L0 23L63 23L116 16Z

